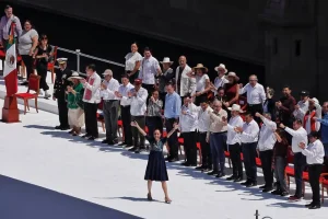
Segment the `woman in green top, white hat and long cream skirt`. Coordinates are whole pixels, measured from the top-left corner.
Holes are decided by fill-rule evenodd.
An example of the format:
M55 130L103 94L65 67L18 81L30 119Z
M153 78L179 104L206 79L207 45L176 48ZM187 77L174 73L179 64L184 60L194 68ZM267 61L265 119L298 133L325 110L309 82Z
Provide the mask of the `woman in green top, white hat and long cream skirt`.
M78 136L81 134L81 127L84 126L84 111L83 111L83 85L80 80L79 72L73 72L69 81L72 85L67 87L67 107L68 107L68 119L72 130L69 134Z

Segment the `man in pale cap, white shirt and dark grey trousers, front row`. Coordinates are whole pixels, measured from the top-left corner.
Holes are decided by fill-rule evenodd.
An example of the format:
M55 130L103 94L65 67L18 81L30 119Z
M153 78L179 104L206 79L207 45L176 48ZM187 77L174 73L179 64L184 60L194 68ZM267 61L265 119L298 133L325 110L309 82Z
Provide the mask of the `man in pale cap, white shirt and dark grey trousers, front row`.
M118 91L119 83L113 78L113 71L110 69L105 70L103 73L105 80L101 84L101 96L104 100L104 118L106 126L106 139L102 143L115 145L117 139L117 120L118 120L118 107L119 99L115 95Z

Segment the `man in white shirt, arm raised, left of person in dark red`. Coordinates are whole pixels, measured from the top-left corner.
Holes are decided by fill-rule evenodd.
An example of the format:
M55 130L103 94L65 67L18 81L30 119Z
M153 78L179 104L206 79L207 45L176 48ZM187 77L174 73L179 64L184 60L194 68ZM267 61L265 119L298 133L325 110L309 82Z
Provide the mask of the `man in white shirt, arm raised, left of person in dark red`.
M259 157L261 159L261 168L266 183L263 186L260 186L260 188L262 188L263 193L268 193L273 189L272 157L273 147L277 141L274 135L277 124L271 120L271 114L269 113L265 113L263 115L256 113L255 116L261 118L263 122L259 132L257 150L259 151Z

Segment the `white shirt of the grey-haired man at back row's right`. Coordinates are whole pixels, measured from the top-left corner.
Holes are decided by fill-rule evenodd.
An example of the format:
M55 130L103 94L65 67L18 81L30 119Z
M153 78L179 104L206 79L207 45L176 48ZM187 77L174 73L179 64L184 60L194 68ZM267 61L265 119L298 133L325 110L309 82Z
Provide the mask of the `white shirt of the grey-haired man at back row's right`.
M243 89L239 89L239 94L247 92L247 103L248 104L263 104L266 102L266 92L261 84L257 83L251 87L247 83Z

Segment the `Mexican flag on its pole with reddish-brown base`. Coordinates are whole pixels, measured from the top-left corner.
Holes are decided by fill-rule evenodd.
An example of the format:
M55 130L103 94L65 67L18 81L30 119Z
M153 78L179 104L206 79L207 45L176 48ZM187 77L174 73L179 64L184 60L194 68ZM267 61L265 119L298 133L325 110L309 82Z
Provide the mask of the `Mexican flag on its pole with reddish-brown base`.
M9 42L7 45L13 45L15 44L14 42L14 30L15 30L15 22L11 22L11 26L10 26L10 33L9 33ZM8 48L5 49L5 59L4 59L4 66L3 66L3 71L5 70L5 68L8 68L8 66L5 65L7 61L12 61L11 58L9 57L10 55L8 54ZM15 49L15 48L14 48ZM14 50L14 58L15 58L15 64L17 60L17 54ZM15 72L17 73L17 65L15 66ZM15 76L16 77L16 76ZM5 79L4 79L5 80ZM15 82L17 83L17 81ZM7 83L5 83L7 84ZM17 87L17 84L15 84ZM15 96L15 93L12 93L12 91L10 91L11 93L8 93L9 88L7 87L7 95L4 97L4 104L2 107L2 122L3 123L19 123L20 122L20 111L17 107L17 99ZM16 91L17 89L15 89Z

